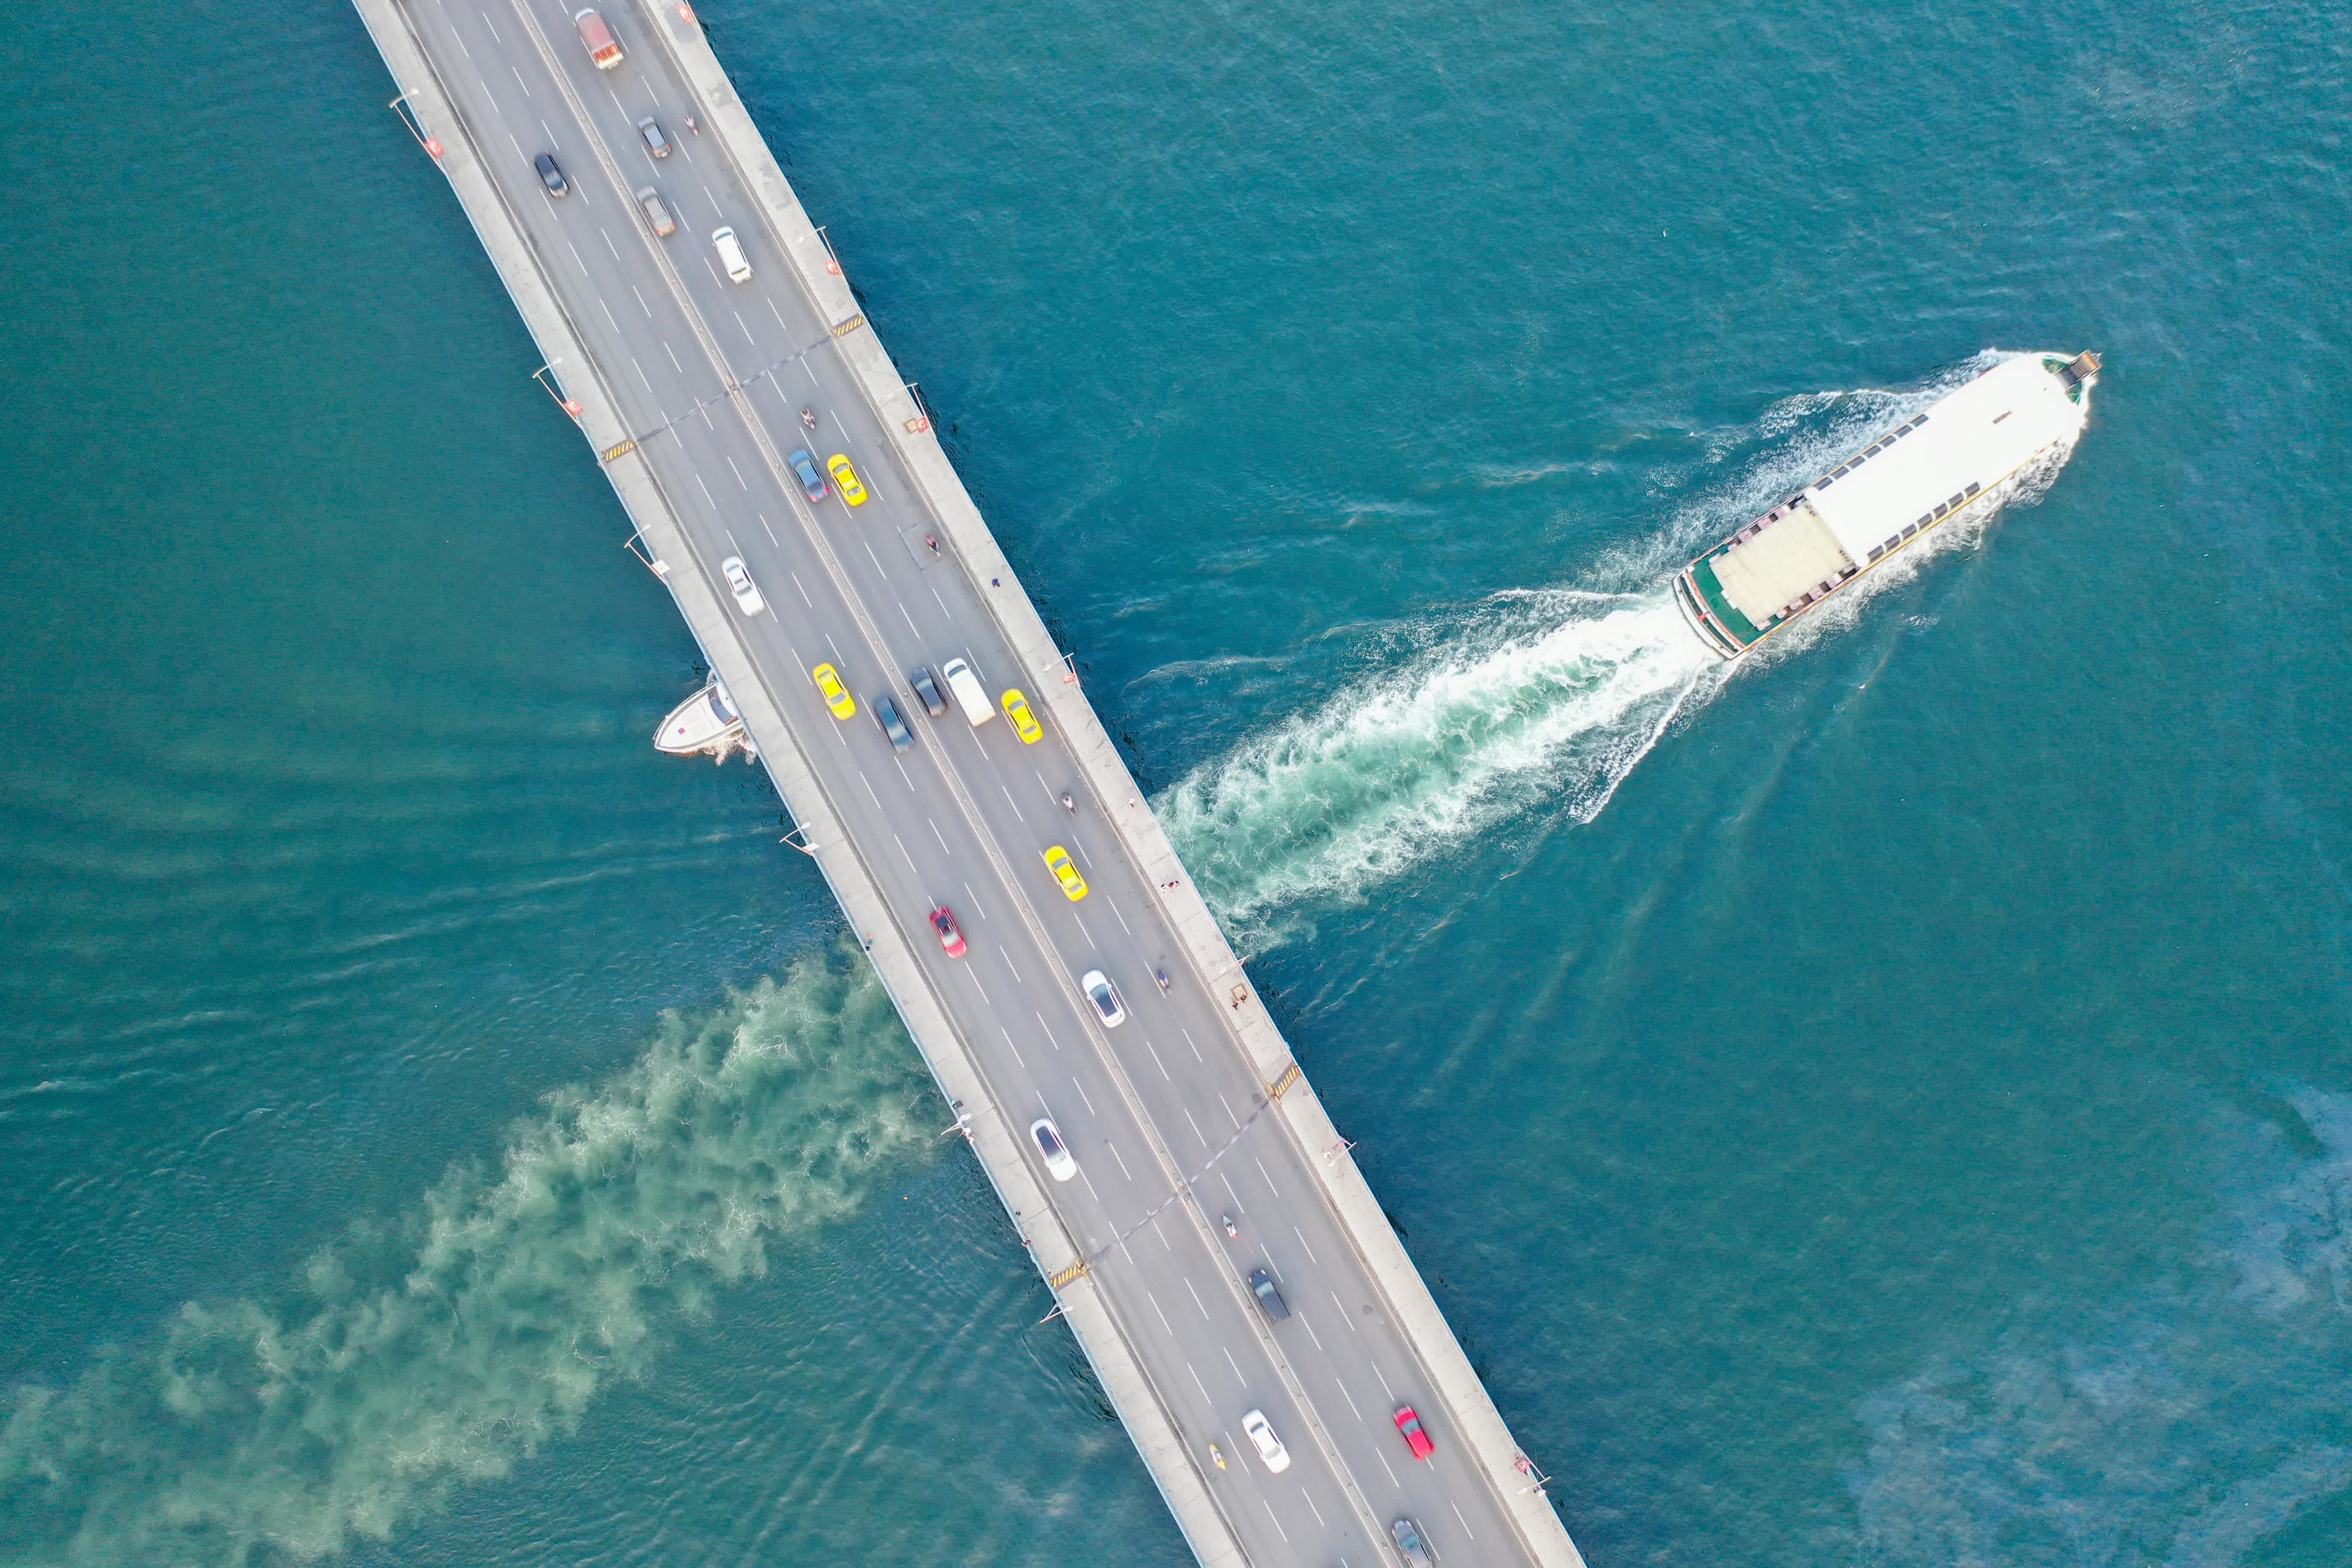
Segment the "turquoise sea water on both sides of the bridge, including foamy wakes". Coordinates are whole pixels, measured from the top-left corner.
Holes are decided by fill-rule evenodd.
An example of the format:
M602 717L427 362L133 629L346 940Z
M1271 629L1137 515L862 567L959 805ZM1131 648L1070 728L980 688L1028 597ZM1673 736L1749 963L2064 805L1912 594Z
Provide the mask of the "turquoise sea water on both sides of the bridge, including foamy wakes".
M2336 12L699 9L1597 1568L2352 1561ZM1183 1561L358 19L198 21L0 35L0 1561Z

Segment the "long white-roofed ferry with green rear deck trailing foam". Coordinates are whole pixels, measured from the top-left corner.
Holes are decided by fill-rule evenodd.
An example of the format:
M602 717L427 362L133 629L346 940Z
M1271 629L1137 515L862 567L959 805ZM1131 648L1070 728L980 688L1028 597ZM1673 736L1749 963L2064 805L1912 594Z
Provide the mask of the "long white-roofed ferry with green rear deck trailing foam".
M1886 430L1675 576L1675 602L1724 658L1884 567L1929 529L2072 442L2098 355L2018 355Z

